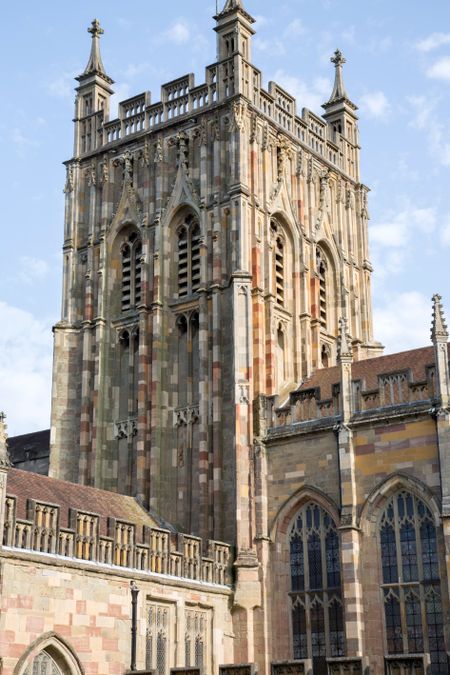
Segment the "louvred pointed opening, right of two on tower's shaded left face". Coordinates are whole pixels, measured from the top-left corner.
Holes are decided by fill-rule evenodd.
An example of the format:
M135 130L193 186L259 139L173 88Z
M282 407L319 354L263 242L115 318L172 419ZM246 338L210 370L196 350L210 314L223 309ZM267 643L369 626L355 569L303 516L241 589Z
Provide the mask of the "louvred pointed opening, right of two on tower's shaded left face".
M200 287L200 226L192 215L178 228L178 297Z

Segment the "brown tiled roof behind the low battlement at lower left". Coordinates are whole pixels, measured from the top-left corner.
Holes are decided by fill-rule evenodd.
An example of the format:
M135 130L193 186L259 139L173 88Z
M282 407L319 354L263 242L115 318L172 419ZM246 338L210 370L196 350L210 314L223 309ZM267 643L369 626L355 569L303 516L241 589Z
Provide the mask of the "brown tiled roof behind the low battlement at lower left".
M7 489L9 496L17 497L17 517L26 518L27 499L55 504L60 507L60 525L69 527L69 509L95 513L101 516L101 534L106 534L106 519L116 518L134 523L138 528L164 527L156 516L146 511L134 497L120 495L116 492L99 490L69 483L68 481L49 478L29 471L10 469L8 471Z

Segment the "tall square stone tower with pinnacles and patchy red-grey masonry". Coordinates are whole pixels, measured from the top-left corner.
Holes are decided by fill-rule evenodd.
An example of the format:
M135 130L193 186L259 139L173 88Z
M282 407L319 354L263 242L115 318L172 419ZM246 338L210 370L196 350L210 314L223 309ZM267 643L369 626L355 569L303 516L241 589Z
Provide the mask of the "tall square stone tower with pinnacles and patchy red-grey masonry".
M268 399L357 361L372 335L368 188L342 79L325 114L262 87L254 19L215 17L218 61L119 104L92 23L66 162L51 475L138 496L184 531L255 535ZM242 557L241 556L241 557ZM246 563L244 563L245 565Z

